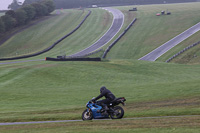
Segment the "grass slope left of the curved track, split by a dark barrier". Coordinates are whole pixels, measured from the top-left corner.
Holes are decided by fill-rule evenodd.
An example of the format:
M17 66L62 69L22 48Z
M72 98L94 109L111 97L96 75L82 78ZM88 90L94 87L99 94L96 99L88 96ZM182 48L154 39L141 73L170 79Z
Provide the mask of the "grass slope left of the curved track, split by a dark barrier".
M84 12L82 10L62 10L60 15L18 33L1 45L0 57L14 57L44 50L64 35L70 33L87 13L87 10ZM45 58L45 55L72 54L77 50L88 47L106 32L111 22L112 16L106 11L102 9L92 10L92 14L78 32L75 32L69 39L67 38L58 47L55 47L42 57ZM98 28L96 29L96 27ZM90 38L85 39L88 36ZM82 43L83 45L80 45Z

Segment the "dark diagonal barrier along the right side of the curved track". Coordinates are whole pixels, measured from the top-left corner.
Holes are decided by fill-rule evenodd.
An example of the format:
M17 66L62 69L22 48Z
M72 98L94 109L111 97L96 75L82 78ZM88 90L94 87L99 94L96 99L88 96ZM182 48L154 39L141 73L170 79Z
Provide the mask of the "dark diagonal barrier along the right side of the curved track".
M114 42L112 42L107 49L105 50L102 58L106 58L106 55L108 54L108 52L110 51L110 49L121 39L122 36L124 36L126 34L126 32L131 28L131 26L135 23L135 21L137 20L137 18L134 18L133 21L128 25L128 27L124 30L124 32L122 32L116 40L114 40Z

